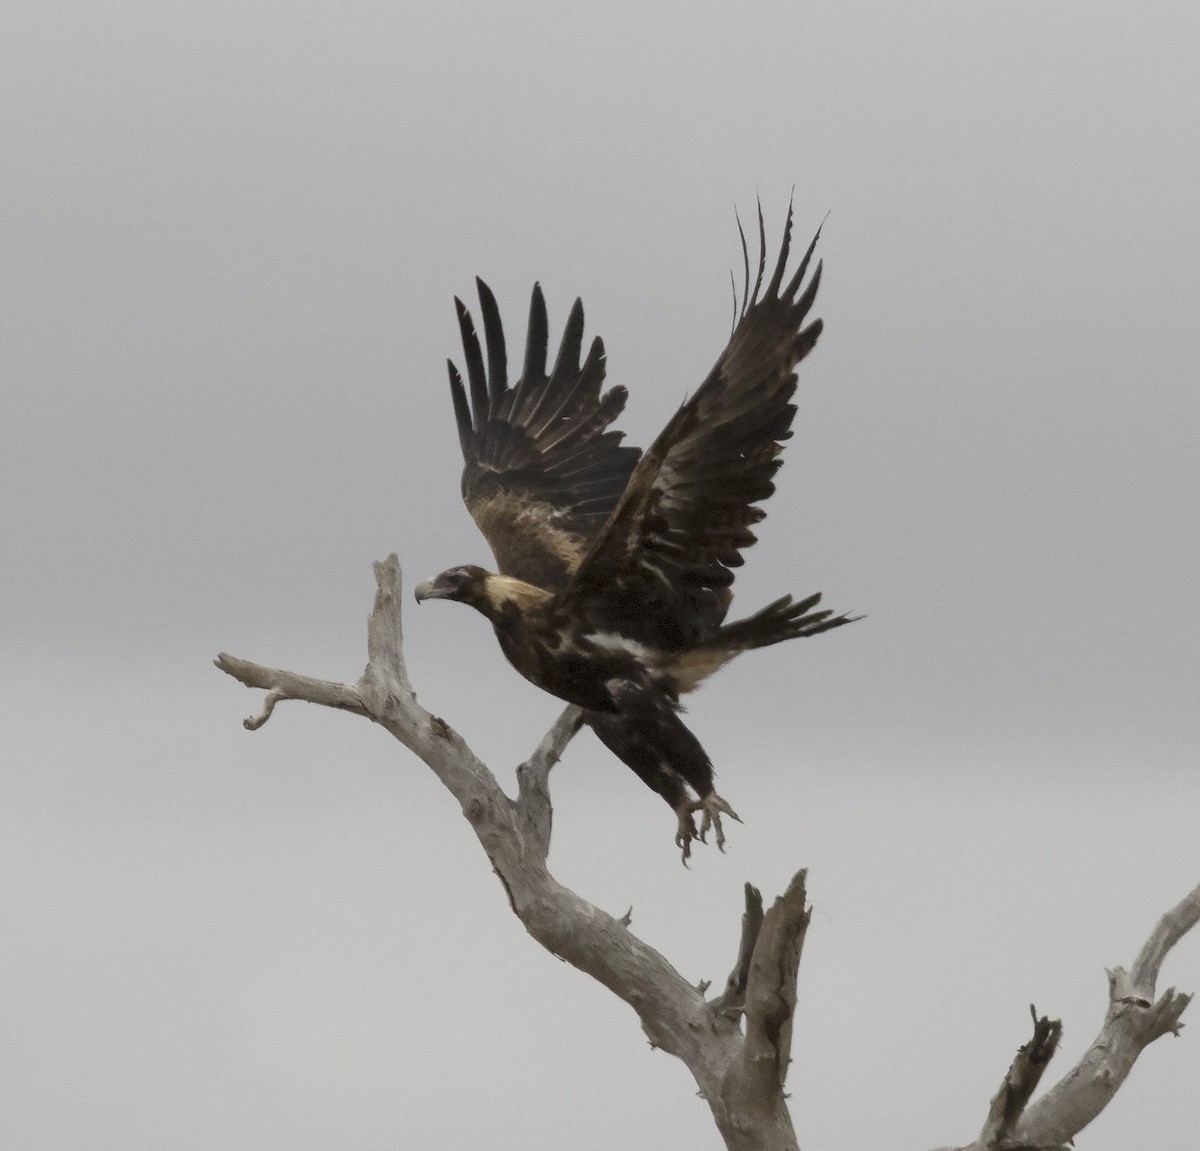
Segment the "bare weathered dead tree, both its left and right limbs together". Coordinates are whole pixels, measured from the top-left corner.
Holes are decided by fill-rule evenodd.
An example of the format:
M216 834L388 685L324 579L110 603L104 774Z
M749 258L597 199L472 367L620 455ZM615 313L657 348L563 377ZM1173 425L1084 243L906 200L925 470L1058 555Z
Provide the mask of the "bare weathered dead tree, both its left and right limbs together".
M491 771L444 720L422 708L404 669L401 574L395 556L376 569L376 601L367 623L367 666L353 684L263 667L232 655L217 666L266 691L251 731L283 700L301 700L362 715L390 731L454 795L487 853L512 911L542 947L598 979L629 1003L652 1045L680 1059L696 1079L731 1151L798 1151L784 1083L792 1045L796 985L809 925L805 873L763 911L749 883L737 958L725 988L707 997L653 947L551 875L546 857L553 809L550 772L580 729L569 707L517 769L508 796ZM1190 996L1174 989L1154 997L1159 965L1200 918L1200 887L1168 912L1129 972L1110 972L1110 1003L1096 1043L1040 1099L1031 1096L1054 1055L1061 1024L1034 1014L1032 1039L1020 1049L991 1102L979 1138L959 1151L1061 1147L1112 1099L1150 1042L1177 1032ZM731 940L732 943L732 940Z

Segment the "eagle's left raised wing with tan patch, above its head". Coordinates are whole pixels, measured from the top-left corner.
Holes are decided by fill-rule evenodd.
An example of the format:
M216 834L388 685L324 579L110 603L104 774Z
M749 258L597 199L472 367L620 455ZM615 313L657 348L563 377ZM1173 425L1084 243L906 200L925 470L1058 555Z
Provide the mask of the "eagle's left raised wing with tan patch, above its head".
M626 391L611 388L601 394L605 354L599 336L581 366L583 305L578 300L546 374L546 301L536 284L524 367L509 386L496 298L482 280L475 283L486 367L470 313L455 299L469 400L458 370L448 361L466 463L462 497L499 570L557 592L608 521L641 455L637 448L622 446L623 432L608 430L625 406Z

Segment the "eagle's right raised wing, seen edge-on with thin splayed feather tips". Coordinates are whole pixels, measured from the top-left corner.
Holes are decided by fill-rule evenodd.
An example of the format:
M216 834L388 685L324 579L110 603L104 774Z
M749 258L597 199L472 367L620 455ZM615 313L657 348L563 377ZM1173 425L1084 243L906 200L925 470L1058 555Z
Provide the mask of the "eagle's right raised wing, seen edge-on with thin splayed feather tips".
M821 334L820 319L808 322L820 263L802 290L817 236L785 284L791 230L788 208L779 259L763 288L760 206L758 274L751 289L746 256L728 346L642 455L607 528L562 592L564 606L587 611L606 629L679 648L725 615L732 569L755 541L751 526L764 515L757 504L774 491L782 442L792 434L796 365ZM744 234L742 242L745 251Z

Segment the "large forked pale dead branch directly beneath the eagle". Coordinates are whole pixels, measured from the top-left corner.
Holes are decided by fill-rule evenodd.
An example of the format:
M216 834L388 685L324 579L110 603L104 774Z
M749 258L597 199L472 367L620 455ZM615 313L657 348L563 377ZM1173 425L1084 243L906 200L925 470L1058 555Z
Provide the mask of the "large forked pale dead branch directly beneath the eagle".
M746 1001L752 1006L746 1014L755 1020L751 1044L738 1026L738 1012L731 1018L731 1003L724 996L707 1001L659 952L629 930L628 917L614 918L550 874L550 772L580 729L578 709L566 708L521 765L517 795L509 797L463 738L416 701L404 667L401 572L395 556L376 564L376 582L367 627L368 661L353 684L217 657L222 671L268 693L262 712L247 719L246 726L260 727L282 700L302 700L364 715L390 731L458 801L526 930L547 951L619 995L637 1012L650 1043L688 1065L727 1146L746 1151L794 1149L782 1075L791 1043L799 942L808 923L803 874L766 918L758 893L752 888L748 892L748 906L757 901L760 911L757 921L751 917L752 929L743 933L738 970L745 973L738 988L740 993L749 985ZM737 1071L731 1074L733 1068ZM755 1087L752 1099L743 1083Z

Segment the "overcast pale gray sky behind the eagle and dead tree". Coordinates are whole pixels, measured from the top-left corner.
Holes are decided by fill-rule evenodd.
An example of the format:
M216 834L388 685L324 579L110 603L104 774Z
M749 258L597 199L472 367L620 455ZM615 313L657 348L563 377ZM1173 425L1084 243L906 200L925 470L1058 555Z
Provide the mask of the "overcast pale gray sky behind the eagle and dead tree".
M370 563L487 553L451 296L602 334L644 445L725 340L733 209L830 212L738 604L851 629L691 706L745 819L684 871L581 736L552 863L690 978L810 868L810 1151L966 1141L1200 880L1194 4L12 4L0 48L0 1143L716 1147L532 943L427 769L224 649L354 678ZM474 613L422 702L506 783L557 714ZM1200 989L1200 940L1165 984ZM1200 1038L1080 1146L1190 1149Z

